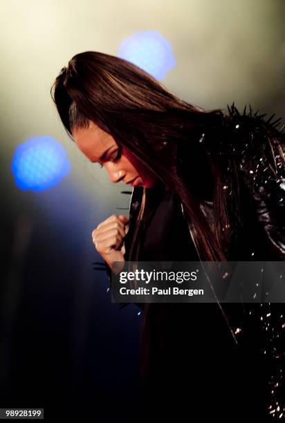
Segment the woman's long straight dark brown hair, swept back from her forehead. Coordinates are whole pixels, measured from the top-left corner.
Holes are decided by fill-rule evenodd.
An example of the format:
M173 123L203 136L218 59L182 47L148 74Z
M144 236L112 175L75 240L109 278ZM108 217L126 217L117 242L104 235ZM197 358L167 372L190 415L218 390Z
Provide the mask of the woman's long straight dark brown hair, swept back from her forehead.
M189 104L125 59L93 51L75 55L62 68L50 94L72 139L72 131L87 128L89 120L111 134L180 198L196 232L201 259L226 261L231 236L228 193L222 189L219 158L210 157L199 142L205 130L221 126L225 117L221 109L205 111ZM186 155L183 171L178 163L181 154ZM201 181L214 199L214 225L200 207ZM147 191L143 190L129 261L138 260Z

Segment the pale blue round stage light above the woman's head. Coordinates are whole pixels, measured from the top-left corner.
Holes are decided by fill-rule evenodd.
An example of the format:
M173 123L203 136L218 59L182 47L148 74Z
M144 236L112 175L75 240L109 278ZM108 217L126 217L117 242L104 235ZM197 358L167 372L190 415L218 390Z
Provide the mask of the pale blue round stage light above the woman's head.
M139 31L122 41L118 57L136 64L160 80L176 66L172 45L157 31Z

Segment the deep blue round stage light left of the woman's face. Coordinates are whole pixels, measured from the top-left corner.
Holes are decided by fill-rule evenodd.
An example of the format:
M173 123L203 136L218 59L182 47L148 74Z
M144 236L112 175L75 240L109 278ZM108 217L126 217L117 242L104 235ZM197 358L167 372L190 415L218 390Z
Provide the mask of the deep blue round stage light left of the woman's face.
M19 145L11 169L19 189L42 191L57 185L71 166L64 147L46 135Z

